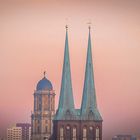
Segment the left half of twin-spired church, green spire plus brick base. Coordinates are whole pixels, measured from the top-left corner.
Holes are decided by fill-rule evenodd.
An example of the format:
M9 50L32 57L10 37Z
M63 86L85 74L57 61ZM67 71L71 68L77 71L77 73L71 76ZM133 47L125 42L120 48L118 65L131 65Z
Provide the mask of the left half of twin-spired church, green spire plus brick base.
M77 112L74 107L70 58L69 58L69 45L68 45L68 27L66 26L66 39L64 62L62 71L62 81L58 110L54 117L53 140L72 140L76 135L71 133L72 129L76 130L77 125ZM74 139L73 139L74 140Z

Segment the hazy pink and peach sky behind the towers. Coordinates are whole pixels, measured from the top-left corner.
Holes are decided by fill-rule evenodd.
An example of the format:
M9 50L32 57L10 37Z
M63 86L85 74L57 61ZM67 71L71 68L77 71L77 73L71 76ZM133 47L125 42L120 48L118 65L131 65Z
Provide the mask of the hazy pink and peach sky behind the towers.
M16 122L30 122L33 93L44 70L57 108L66 24L75 105L80 107L89 21L103 140L140 135L139 0L1 0L0 136Z

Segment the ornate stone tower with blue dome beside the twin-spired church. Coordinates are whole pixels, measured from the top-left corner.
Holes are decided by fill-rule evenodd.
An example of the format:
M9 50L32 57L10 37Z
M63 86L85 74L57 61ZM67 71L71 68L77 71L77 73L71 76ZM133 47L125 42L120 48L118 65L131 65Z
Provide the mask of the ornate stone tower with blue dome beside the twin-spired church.
M52 135L55 114L55 92L51 82L44 77L34 92L34 111L31 115L31 139L48 140Z

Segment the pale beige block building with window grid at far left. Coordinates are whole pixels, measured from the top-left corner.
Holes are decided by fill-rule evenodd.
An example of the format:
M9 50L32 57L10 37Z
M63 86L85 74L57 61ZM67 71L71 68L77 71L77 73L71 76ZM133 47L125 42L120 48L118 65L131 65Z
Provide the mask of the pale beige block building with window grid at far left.
M22 128L16 126L8 128L7 140L22 140Z

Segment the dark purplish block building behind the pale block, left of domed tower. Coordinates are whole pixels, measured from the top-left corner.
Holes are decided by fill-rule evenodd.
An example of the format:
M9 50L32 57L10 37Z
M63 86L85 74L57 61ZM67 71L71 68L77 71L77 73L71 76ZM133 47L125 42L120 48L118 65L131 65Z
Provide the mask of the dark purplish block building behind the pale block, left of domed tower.
M21 127L22 129L22 140L31 139L31 124L29 123L17 123L16 127Z

